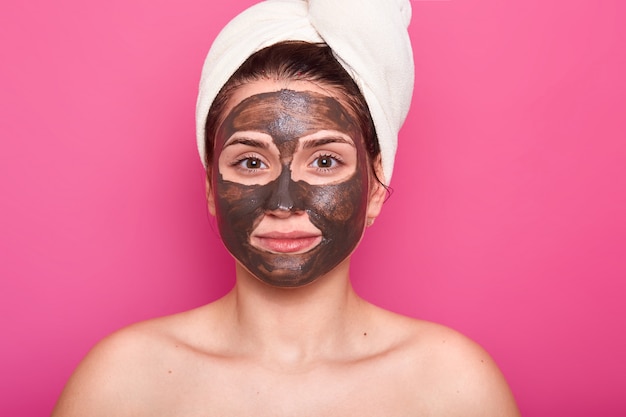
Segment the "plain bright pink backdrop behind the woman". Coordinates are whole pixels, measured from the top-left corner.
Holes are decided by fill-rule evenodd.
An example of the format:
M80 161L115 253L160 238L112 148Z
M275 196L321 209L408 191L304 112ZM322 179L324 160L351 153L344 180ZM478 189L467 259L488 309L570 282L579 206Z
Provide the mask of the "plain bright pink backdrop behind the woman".
M0 5L0 415L233 284L196 155L238 1ZM414 1L417 84L353 281L500 364L526 416L626 415L626 3Z

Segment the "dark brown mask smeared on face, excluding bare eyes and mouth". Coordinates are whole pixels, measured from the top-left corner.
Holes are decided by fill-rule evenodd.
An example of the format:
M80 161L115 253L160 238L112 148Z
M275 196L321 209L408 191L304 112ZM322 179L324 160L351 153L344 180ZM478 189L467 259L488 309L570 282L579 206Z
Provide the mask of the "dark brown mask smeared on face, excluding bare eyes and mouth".
M322 130L345 133L356 149L356 169L339 182L294 181L299 139ZM236 132L261 132L279 152L280 173L264 184L225 180L213 164L213 190L220 234L229 252L254 276L273 286L306 285L346 259L363 235L367 211L367 154L354 118L332 97L311 91L280 90L246 98L228 114L216 136L219 158ZM275 253L251 245L264 216L276 210L306 213L321 241L304 253ZM286 217L281 221L289 221Z

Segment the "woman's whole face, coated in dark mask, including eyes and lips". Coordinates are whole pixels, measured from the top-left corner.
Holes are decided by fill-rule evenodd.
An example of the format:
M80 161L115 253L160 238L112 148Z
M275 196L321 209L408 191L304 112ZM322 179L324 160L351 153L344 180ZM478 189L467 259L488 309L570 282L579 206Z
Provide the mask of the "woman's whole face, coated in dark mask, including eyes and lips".
M229 252L258 279L306 285L345 260L368 216L358 124L302 81L239 88L215 137L211 211Z

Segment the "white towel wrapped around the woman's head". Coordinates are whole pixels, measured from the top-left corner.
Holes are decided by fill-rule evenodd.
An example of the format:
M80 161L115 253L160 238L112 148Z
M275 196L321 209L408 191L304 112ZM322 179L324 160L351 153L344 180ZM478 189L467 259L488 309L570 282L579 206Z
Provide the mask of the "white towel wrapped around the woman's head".
M359 86L380 144L389 184L413 95L408 0L266 0L235 17L217 36L202 69L196 106L198 151L213 100L248 57L283 41L326 43Z

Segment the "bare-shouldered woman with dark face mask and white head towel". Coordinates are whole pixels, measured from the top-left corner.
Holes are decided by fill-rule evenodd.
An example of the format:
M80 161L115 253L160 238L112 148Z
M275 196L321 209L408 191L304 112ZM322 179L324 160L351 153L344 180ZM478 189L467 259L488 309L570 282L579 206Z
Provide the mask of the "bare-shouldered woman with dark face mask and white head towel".
M369 17L388 23L388 3L359 4L376 6ZM399 4L406 13L408 3ZM412 85L412 66L384 72L379 88L368 84L381 81L376 70L337 54L343 39L329 47L291 33L251 53L232 44L250 19L268 25L268 15L291 13L288 21L314 22L320 8L330 14L322 6L252 8L222 32L203 70L197 121L207 202L236 261L235 287L100 342L54 416L518 415L480 347L379 309L350 285L350 255L381 210L408 109L406 97L398 104L390 93L410 100L410 88L401 90ZM410 58L407 44L398 49Z

